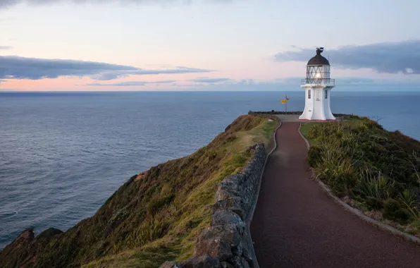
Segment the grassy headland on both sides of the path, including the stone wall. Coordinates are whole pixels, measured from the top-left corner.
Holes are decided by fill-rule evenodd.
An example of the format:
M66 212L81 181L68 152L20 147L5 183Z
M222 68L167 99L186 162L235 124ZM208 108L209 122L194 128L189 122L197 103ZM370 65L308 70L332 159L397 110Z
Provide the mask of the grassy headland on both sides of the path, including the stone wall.
M194 154L132 176L68 231L23 231L0 252L0 267L253 267L245 226L276 114L240 116ZM366 117L336 116L343 121L300 128L316 179L364 215L419 237L420 142Z

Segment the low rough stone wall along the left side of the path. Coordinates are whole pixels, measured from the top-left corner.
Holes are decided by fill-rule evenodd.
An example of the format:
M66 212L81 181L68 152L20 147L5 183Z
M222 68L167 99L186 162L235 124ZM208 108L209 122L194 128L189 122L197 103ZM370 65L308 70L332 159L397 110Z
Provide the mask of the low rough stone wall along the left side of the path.
M245 226L267 154L263 144L253 149L254 156L245 169L227 176L218 185L211 226L199 234L194 257L179 264L165 262L161 268L254 267Z

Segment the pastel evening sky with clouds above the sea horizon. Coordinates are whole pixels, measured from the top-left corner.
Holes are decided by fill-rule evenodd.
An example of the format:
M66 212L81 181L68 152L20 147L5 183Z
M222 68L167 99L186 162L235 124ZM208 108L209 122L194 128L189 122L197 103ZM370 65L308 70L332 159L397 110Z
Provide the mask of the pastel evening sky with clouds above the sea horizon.
M418 0L0 0L0 90L420 91Z

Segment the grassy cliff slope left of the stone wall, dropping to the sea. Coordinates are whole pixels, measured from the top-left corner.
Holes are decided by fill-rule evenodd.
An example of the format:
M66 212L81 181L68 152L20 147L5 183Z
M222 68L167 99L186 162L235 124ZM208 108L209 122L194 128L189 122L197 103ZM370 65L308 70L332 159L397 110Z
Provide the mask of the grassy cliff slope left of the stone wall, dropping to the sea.
M240 116L209 145L132 176L93 217L0 252L0 267L159 267L192 256L209 227L217 185L268 144L275 121Z

